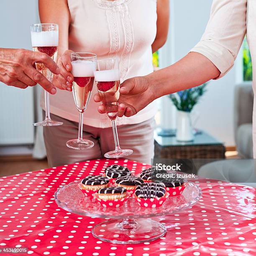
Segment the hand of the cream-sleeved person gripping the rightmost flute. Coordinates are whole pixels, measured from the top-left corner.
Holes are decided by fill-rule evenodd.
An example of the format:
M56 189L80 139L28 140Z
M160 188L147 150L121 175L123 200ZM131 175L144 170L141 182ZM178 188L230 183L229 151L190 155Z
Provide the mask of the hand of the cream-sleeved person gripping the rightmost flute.
M147 77L133 77L125 80L120 85L120 98L118 116L129 117L135 115L155 100L154 91L151 89ZM95 102L100 102L100 95L94 96ZM98 112L105 113L105 107L100 105Z

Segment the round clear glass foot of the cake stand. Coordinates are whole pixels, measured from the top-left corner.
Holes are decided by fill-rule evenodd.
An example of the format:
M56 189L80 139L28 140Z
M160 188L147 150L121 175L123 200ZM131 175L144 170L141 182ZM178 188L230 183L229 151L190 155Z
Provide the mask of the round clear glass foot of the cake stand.
M116 244L134 244L154 241L166 233L166 227L154 220L107 220L95 225L92 235L102 241Z

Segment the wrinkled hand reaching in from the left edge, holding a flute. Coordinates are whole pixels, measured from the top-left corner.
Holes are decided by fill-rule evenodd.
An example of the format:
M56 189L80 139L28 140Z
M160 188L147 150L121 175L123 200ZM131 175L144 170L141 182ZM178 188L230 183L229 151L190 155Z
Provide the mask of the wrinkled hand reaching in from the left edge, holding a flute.
M47 54L25 49L1 48L0 81L22 89L40 84L46 91L55 94L55 86L36 70L35 62L44 63L54 74L60 72L56 63Z

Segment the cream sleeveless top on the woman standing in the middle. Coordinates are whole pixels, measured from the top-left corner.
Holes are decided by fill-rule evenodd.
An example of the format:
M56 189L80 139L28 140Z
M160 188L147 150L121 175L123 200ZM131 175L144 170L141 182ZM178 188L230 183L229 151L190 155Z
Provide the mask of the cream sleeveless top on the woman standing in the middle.
M120 58L120 82L153 72L151 44L156 37L157 0L68 0L71 23L69 49L97 54L97 58ZM97 111L93 95L84 112L84 124L107 128L111 121ZM44 108L44 98L41 100ZM50 96L50 111L78 122L72 92L57 90ZM117 125L136 124L152 118L157 111L152 102L133 117L117 118Z

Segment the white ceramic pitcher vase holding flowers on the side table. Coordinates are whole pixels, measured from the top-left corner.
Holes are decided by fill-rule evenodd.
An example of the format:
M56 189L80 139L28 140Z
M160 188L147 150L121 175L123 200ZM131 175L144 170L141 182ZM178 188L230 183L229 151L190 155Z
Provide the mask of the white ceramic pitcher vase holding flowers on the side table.
M177 111L177 141L193 141L194 133L191 122L191 113L186 111Z

